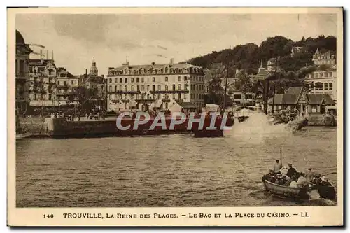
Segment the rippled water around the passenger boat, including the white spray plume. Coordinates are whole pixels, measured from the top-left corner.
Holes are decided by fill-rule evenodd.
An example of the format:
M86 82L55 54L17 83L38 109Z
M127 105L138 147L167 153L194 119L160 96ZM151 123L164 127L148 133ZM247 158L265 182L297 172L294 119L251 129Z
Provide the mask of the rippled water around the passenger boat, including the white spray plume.
M335 127L291 132L255 114L223 138L190 135L17 141L18 207L335 205L265 192L262 174L313 167L337 185Z

